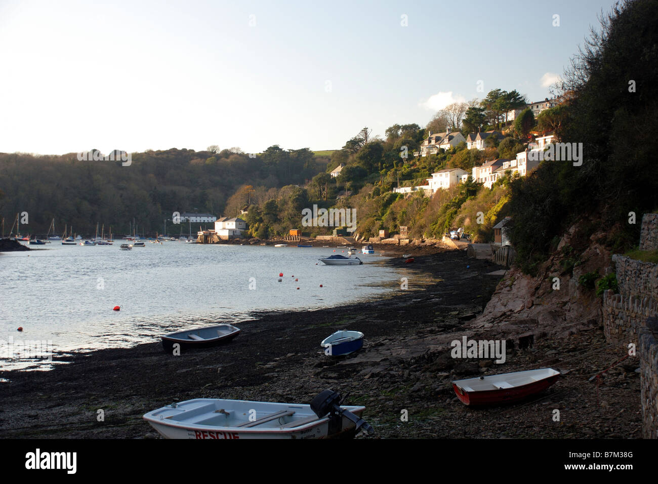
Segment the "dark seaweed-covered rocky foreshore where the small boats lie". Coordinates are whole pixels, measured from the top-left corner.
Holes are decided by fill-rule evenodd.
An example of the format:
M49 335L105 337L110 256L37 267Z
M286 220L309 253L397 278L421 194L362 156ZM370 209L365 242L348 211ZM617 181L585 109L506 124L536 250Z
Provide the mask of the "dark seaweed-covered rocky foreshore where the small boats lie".
M0 381L9 380L0 383L0 437L156 438L141 416L165 404L201 397L310 402L326 388L349 392L346 404L366 406L374 438L642 436L639 363L627 360L599 385L588 382L620 357L599 327L536 338L522 350L508 345L500 365L453 359L451 340L486 335L478 316L500 281L488 273L500 267L464 251L400 249L415 263L386 263L413 269L409 289L386 298L253 313L229 344L178 357L153 342L61 357L70 363L52 371L0 371ZM363 349L343 359L324 356L319 342L337 329L363 331ZM545 366L565 375L538 398L512 406L468 408L450 383ZM105 421L97 421L97 410Z

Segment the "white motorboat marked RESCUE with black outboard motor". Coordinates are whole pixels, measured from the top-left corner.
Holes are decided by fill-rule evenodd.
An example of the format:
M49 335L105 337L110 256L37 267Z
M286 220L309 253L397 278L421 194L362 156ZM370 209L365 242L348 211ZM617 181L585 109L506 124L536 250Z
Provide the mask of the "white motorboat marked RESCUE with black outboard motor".
M143 416L165 439L326 439L353 437L372 427L361 418L365 407L342 406L332 390L311 404L195 398Z

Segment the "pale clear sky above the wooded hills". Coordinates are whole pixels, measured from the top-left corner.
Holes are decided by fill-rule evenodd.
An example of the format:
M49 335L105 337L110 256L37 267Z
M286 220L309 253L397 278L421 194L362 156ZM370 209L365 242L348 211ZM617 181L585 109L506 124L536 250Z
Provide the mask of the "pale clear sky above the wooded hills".
M495 88L539 101L612 4L0 0L0 152L340 149Z

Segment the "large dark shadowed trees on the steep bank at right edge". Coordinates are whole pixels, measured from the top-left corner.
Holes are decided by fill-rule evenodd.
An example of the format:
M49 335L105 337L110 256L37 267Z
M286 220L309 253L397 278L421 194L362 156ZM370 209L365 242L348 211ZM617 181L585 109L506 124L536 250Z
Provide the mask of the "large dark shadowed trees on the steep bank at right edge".
M582 143L582 163L542 163L511 183L509 236L526 272L540 267L576 221L588 221L570 238L578 254L594 227L605 232L602 244L623 253L637 244L641 214L658 207L651 142L658 131L658 63L649 61L658 51L655 7L642 0L615 4L563 76L559 88L573 97L559 137ZM638 223L629 223L631 211Z

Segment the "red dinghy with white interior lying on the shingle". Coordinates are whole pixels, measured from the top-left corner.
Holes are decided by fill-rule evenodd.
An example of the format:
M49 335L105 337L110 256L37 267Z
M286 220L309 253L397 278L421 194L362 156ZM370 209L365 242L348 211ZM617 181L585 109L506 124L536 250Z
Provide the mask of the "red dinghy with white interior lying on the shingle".
M552 368L540 368L455 380L452 384L457 398L465 405L496 405L518 402L547 389L559 375Z

